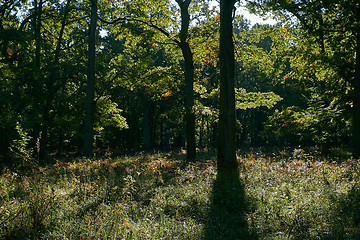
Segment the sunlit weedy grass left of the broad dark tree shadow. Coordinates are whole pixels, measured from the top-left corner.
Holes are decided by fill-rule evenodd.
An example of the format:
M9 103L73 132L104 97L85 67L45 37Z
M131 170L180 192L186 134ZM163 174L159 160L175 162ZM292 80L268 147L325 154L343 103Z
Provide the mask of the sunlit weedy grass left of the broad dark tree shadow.
M214 174L213 162L166 154L58 161L24 176L5 171L0 237L199 239Z

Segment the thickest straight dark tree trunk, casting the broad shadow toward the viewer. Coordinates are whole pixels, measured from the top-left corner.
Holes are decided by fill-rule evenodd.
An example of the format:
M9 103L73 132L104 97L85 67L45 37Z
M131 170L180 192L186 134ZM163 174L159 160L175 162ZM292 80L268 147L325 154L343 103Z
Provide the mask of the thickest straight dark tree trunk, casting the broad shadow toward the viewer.
M236 167L235 56L232 33L234 0L220 1L220 112L218 165Z

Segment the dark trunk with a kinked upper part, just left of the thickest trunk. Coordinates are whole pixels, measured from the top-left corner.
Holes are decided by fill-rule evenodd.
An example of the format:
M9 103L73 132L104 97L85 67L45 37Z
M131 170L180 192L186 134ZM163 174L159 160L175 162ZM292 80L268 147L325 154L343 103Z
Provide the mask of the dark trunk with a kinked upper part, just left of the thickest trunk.
M190 24L189 5L191 0L176 0L181 10L180 48L184 57L185 70L185 124L186 124L186 157L189 161L196 158L195 113L194 107L194 60L188 43Z

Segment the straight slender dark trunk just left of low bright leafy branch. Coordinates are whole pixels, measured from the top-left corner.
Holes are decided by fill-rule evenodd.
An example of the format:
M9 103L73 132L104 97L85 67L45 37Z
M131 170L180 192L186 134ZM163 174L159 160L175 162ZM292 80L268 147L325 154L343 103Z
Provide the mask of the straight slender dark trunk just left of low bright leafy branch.
M95 44L96 44L96 25L97 25L97 0L91 0L91 15L88 39L88 69L86 86L86 116L83 139L83 153L91 156L94 141L94 114L95 114Z

